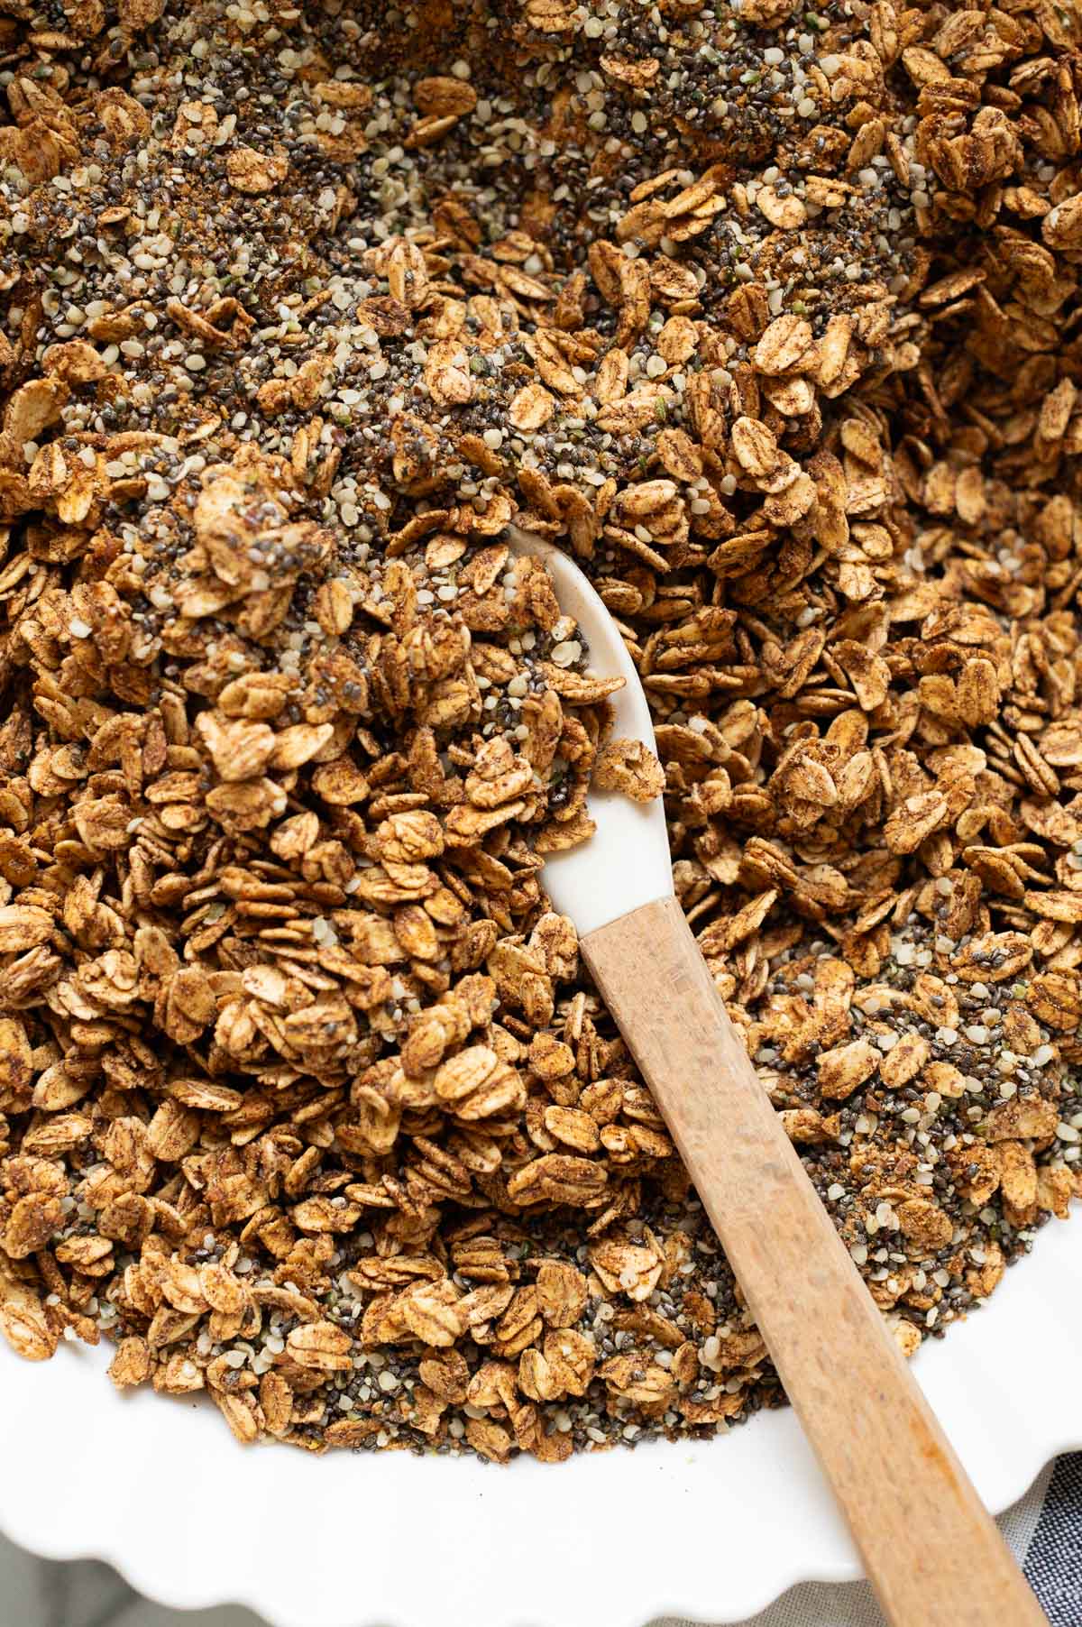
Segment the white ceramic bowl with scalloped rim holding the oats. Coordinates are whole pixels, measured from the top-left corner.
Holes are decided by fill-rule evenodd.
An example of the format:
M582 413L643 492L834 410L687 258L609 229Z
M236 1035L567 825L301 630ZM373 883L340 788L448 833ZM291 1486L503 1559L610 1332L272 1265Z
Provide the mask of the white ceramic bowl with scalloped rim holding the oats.
M916 1373L993 1510L1082 1446L1082 1224L1049 1224ZM142 1593L273 1627L732 1622L859 1575L792 1412L706 1443L543 1468L244 1450L208 1404L119 1396L109 1352L29 1365L0 1339L0 1526L107 1559ZM844 1350L838 1352L844 1362Z

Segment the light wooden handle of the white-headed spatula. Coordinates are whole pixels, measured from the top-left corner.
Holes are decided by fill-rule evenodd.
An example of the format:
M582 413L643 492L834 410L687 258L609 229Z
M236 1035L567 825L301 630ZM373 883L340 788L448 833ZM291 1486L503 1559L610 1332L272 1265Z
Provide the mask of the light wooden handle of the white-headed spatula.
M1046 1617L815 1196L675 898L582 939L892 1627Z

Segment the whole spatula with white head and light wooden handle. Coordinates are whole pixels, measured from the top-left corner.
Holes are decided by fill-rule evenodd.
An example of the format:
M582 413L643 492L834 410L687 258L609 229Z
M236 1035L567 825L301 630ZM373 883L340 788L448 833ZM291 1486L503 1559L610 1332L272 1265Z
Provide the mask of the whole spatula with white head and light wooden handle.
M674 893L649 708L582 571L543 558L578 623L569 662L623 678L613 737L579 818L548 848L545 888L651 1085L893 1627L1045 1622L901 1357L758 1080ZM584 646L584 648L582 648ZM556 652L553 652L556 654ZM565 654L565 652L561 652ZM623 794L618 794L623 792ZM856 1066L856 1062L854 1062Z

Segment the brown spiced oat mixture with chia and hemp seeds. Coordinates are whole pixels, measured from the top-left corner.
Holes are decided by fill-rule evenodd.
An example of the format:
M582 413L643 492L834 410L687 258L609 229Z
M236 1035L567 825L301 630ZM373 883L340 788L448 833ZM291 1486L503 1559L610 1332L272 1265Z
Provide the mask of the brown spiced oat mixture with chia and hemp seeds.
M680 900L901 1347L1082 1191L1077 20L0 0L0 1331L241 1440L781 1398L543 896ZM517 522L631 651L607 737ZM664 773L662 773L664 770Z

